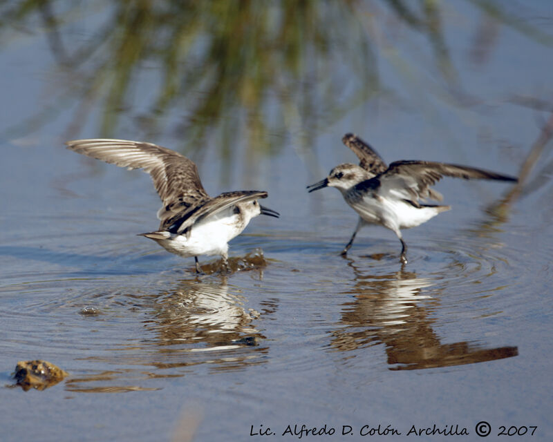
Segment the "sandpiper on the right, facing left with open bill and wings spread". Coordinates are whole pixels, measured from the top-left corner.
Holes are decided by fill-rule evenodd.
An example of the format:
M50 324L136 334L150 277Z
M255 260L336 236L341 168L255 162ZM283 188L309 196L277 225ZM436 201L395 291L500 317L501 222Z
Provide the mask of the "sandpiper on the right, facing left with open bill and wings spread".
M515 177L456 164L402 160L386 166L382 157L357 135L346 133L342 142L359 157L359 166L340 164L330 171L328 177L311 184L308 189L312 192L327 186L336 187L344 200L359 214L357 227L341 251L343 256L348 253L361 227L377 224L390 229L400 238L400 260L406 263L407 246L401 229L417 227L438 213L451 209L450 206L423 204L427 198L442 200L442 195L430 186L444 176L465 180L517 181Z

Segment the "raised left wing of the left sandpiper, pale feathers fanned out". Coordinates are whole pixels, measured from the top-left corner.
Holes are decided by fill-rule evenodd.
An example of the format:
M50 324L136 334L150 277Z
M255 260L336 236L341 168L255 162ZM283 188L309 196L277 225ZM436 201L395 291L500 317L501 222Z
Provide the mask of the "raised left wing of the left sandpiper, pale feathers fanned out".
M163 202L158 211L162 222L183 208L189 209L210 200L196 164L171 149L152 143L101 138L74 140L66 145L88 157L149 173Z

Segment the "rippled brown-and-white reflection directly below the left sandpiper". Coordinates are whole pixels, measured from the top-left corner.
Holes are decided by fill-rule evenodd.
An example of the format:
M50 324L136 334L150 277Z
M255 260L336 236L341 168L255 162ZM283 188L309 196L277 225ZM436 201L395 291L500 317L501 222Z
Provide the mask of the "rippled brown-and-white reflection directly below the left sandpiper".
M227 278L219 282L181 280L176 289L160 294L148 327L158 347L152 365L159 369L210 363L216 370L241 369L261 363L268 349L253 325L259 313L229 292Z

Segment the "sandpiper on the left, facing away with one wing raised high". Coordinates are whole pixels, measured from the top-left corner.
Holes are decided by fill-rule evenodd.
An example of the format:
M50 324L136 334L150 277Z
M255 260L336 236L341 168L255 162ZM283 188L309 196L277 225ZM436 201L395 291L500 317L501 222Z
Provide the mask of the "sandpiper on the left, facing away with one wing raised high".
M196 164L171 149L128 140L75 140L66 142L72 151L117 166L142 169L149 173L160 195L161 220L157 231L140 233L165 250L184 258L221 255L228 268L228 242L238 236L257 215L279 218L279 213L257 200L265 191L235 191L211 198L202 186Z

